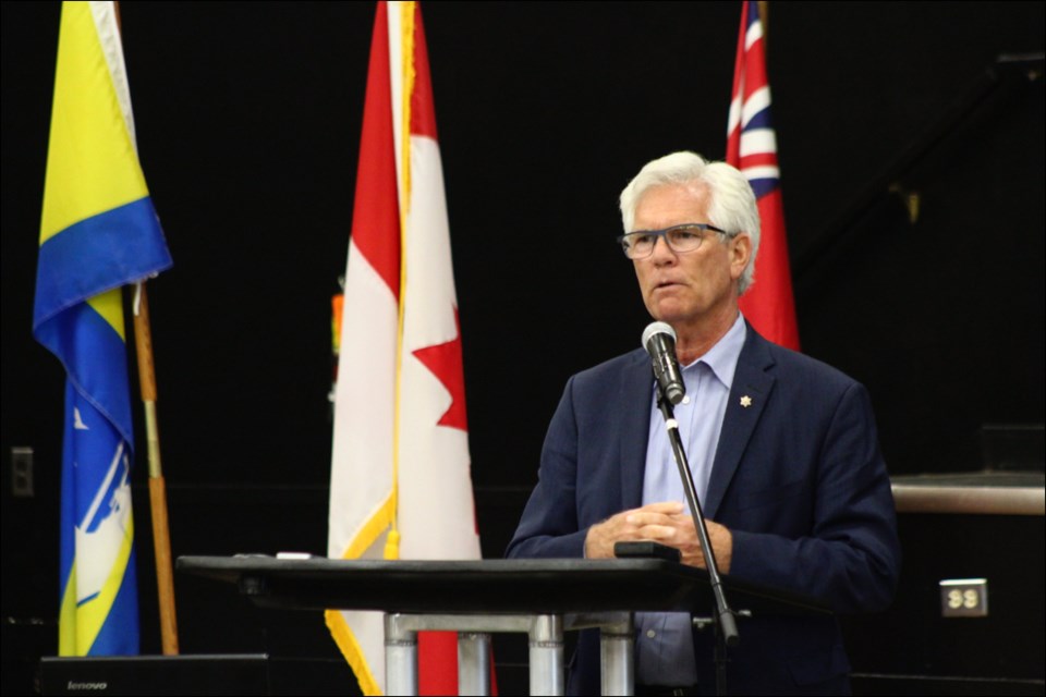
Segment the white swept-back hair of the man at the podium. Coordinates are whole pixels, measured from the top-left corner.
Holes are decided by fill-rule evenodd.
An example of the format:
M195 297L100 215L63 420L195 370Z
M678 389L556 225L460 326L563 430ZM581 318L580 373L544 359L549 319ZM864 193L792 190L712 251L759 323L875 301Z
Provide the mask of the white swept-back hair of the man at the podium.
M752 186L737 168L726 162L708 162L696 152L672 152L647 162L621 192L621 222L632 232L635 207L647 191L658 186L685 186L695 194L708 193L708 222L727 231L729 237L746 232L752 239L749 264L738 281L744 293L755 281L755 256L759 250L759 210Z

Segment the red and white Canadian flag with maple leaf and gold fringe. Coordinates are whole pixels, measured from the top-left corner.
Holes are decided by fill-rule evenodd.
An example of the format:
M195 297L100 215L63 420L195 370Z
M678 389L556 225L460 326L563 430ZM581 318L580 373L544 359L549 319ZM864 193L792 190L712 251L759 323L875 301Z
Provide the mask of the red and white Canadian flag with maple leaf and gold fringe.
M379 2L335 401L328 554L479 559L461 335L428 56L415 2ZM385 690L375 612L328 611L366 695ZM457 694L453 635L423 635L422 694Z

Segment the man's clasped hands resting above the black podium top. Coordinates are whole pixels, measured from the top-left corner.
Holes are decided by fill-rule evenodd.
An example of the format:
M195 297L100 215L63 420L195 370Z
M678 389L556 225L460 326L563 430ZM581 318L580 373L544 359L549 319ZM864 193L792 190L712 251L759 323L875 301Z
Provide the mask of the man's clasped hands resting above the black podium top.
M730 573L730 557L733 537L730 530L714 521L705 521L708 539L716 554L719 571ZM585 537L585 557L588 559L613 558L613 543L631 540L652 540L674 547L682 554L682 562L698 568L705 567L694 519L678 501L648 503L638 509L622 511L603 523L588 528Z

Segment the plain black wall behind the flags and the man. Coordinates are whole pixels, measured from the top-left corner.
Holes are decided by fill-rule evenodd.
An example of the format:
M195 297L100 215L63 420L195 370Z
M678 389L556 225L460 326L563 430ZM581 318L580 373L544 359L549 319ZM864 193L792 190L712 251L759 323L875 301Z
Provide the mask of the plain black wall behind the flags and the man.
M770 3L803 350L868 386L893 474L980 468L982 425L1044 420L1042 58L1037 78L996 64L1041 56L1043 9ZM3 646L32 653L53 650L58 598L63 375L31 317L59 4L0 10ZM121 10L138 149L175 262L149 285L174 553L323 553L330 297L374 5ZM725 154L740 3L423 13L481 534L500 555L563 382L636 346L647 321L613 244L617 194L654 157ZM891 186L920 194L915 222ZM13 447L34 449L33 497L12 491ZM136 481L154 623L144 451ZM177 580L184 648L228 648L206 620L228 589ZM280 641L254 617L222 623L243 639L229 645Z

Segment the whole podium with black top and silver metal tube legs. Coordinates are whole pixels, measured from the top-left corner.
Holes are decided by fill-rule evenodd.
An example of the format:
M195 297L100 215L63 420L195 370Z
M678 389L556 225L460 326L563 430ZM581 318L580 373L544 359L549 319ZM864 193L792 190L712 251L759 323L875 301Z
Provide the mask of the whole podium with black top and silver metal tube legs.
M530 636L531 694L562 695L563 632L598 627L604 695L633 694L635 612L711 614L707 574L655 559L343 561L181 557L177 567L235 584L264 608L386 613L390 695L417 694L417 632L458 632L459 689L486 695L489 633ZM815 601L723 579L741 612L827 612ZM744 626L741 625L741 640Z

